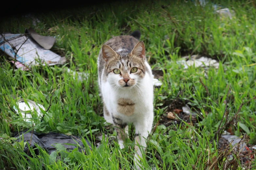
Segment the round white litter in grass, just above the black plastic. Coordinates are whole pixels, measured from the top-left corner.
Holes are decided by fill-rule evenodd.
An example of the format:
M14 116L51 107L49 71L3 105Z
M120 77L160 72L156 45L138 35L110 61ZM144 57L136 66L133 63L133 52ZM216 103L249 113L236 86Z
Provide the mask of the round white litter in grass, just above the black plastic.
M45 110L45 108L43 107L43 105L40 104L36 104L35 102L33 102L32 100L29 99L25 99L27 104L25 103L24 99L19 99L16 104L18 106L18 108L16 108L15 106L13 106L14 110L19 114L21 113L22 117L25 118L24 121L26 122L32 122L32 115L31 113L35 110L37 113L38 117L42 117L42 113L40 111L40 108L42 108L43 110ZM40 108L39 108L40 107Z

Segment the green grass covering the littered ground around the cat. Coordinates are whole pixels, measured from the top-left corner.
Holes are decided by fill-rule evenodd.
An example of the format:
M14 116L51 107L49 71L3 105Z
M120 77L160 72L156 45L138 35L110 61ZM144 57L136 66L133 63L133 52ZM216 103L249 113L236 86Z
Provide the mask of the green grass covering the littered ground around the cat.
M177 100L188 104L198 119L196 124L183 121L183 124L173 122L165 126L159 123L149 136L147 153L141 160L145 169L152 166L156 169L213 168L211 163L214 164L215 158L221 155L214 140L219 125L222 130L237 136L247 133L248 143L255 145L255 100L246 103L256 96L256 9L253 2L222 2L222 6L234 11L235 16L231 20L220 18L210 4L195 6L190 1L116 2L82 7L40 14L36 17L41 22L35 26L26 17L3 20L0 30L4 32L23 33L25 28L32 27L40 35L56 36L52 50L65 56L67 63L34 66L30 71L15 70L13 74L8 56L2 54L0 169L129 169L133 166L133 140L128 140L126 148L120 149L114 138L116 133L105 125L102 117L96 63L105 41L133 30L141 31L141 40L145 42L146 56L152 69L163 71L163 85L154 90L154 125L166 117L166 108L178 94ZM48 31L54 26L59 29ZM217 59L219 68L204 70L190 66L184 69L179 63L180 56L192 52ZM89 76L78 81L77 76L73 78L67 72L67 67ZM30 99L47 108L51 95L49 111L43 112L43 119L34 115L34 125L23 121L13 109L19 98ZM239 109L242 103L245 104ZM225 110L227 113L223 117ZM92 149L83 140L85 146L80 147L85 149L84 153L77 149L68 152L60 145L51 155L39 147L39 155L30 149L32 155L28 156L23 151L26 143L17 142L12 137L14 131L32 129L41 133L79 135L91 141ZM96 148L94 141L103 133L107 137L103 137L101 145ZM55 161L57 153L61 157ZM237 165L231 163L227 169L248 167L248 164L240 163L236 153L233 155L237 158L234 161ZM224 169L228 161L223 157L215 165ZM250 162L250 168L253 166L256 166L254 160Z

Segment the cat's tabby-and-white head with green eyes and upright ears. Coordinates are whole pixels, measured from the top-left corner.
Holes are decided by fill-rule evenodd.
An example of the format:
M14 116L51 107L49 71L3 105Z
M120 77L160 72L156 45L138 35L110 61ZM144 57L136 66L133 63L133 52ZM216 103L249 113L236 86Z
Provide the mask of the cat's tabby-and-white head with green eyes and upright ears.
M109 46L102 46L106 79L113 88L131 88L140 85L145 77L145 46L138 42L131 53L117 54Z

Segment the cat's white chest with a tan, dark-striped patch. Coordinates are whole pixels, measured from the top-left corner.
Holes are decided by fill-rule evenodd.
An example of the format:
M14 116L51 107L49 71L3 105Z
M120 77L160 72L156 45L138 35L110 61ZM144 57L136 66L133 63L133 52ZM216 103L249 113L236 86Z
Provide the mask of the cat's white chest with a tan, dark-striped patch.
M108 82L102 83L103 100L114 117L126 122L134 122L146 116L153 108L152 78L146 74L140 86L126 89L114 89Z

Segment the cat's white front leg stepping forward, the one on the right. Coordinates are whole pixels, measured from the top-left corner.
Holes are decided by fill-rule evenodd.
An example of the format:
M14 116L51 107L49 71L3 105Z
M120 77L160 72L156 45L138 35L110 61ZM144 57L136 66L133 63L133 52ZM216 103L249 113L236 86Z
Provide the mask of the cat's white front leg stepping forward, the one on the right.
M147 144L146 144L146 139L148 137L148 134L151 132L152 128L152 123L153 123L153 114L143 120L143 121L138 121L135 124L135 155L134 155L134 166L139 170L139 163L140 163L140 158L142 158L143 152L145 152Z

